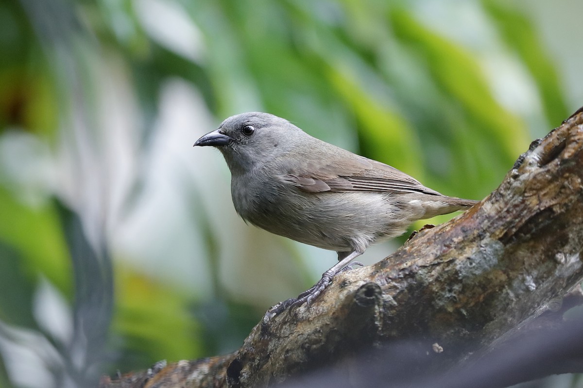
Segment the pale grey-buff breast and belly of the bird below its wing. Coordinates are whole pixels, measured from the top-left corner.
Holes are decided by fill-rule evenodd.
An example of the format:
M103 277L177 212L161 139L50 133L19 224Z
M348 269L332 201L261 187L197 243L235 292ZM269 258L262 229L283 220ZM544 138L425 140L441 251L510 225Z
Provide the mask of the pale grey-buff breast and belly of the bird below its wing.
M406 196L295 189L277 193L233 195L233 203L243 219L268 232L337 252L364 252L375 241L401 235L423 216L423 209L415 209Z

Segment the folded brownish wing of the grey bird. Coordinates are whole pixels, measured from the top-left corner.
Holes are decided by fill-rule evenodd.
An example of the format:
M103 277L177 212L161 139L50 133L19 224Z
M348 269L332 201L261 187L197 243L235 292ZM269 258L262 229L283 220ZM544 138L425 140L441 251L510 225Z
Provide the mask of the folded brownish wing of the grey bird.
M353 158L331 158L324 163L297 162L290 165L282 181L307 193L324 191L369 191L376 193L425 193L441 195L406 173L351 154ZM347 163L346 161L350 162Z

